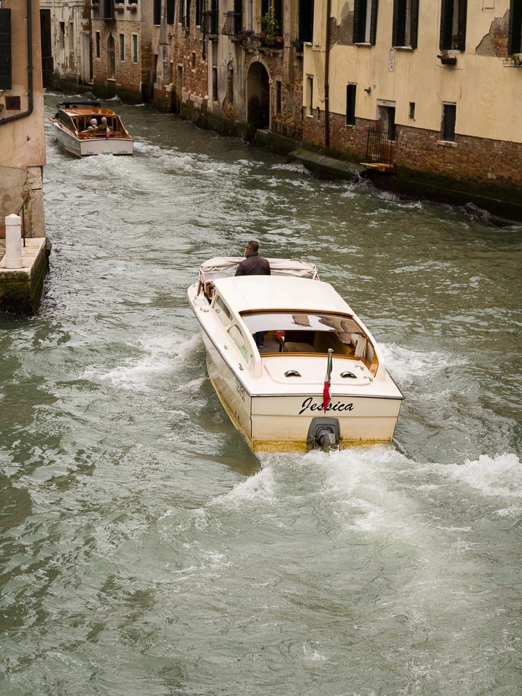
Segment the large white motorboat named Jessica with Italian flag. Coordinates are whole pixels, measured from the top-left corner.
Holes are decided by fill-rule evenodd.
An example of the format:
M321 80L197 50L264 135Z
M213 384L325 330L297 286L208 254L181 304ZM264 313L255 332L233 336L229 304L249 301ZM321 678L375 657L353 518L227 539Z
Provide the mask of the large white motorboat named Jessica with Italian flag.
M230 276L240 261L202 264L187 299L209 378L253 450L390 442L404 396L361 319L310 262L269 259L271 276Z

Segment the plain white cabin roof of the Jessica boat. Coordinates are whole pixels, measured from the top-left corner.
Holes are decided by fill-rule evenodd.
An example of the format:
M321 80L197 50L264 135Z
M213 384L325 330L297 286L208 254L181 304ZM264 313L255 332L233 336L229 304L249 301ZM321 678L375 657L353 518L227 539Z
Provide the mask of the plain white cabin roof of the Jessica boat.
M352 315L330 283L294 276L216 278L214 286L232 311L310 310Z

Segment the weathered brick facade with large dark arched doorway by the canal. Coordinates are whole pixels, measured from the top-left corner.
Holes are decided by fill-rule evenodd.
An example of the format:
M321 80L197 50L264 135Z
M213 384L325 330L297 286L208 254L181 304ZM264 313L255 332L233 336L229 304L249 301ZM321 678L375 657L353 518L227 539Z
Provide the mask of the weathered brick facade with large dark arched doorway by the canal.
M312 21L309 0L155 0L155 101L222 132L299 139Z

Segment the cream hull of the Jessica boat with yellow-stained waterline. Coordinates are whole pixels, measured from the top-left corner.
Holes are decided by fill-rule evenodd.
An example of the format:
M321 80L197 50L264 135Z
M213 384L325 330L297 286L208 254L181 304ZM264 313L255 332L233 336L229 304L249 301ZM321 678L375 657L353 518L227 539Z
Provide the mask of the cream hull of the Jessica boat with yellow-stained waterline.
M325 413L322 393L251 394L214 342L204 331L202 335L212 385L230 420L244 432L254 451L306 452L308 432L314 418L338 420L340 448L392 440L402 402L400 398L332 393Z

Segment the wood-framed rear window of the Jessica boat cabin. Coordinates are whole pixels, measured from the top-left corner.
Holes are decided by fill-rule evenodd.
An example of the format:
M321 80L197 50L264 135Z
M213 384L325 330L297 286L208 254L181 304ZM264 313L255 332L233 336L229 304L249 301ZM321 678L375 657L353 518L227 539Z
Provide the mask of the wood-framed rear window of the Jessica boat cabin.
M369 354L370 342L349 315L322 312L243 313L248 331L261 353L327 353L360 356Z

